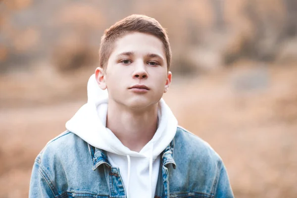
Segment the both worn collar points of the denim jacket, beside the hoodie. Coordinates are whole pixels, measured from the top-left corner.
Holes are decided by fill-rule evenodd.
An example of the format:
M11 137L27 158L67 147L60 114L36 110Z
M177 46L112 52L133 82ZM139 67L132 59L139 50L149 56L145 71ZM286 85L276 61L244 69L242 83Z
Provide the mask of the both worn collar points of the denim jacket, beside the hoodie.
M89 151L93 161L93 170L96 170L96 168L99 167L101 164L105 164L109 168L111 167L105 150L95 148L89 144L88 146L89 146ZM173 149L174 149L174 139L161 153L161 159L162 159L162 164L164 166L168 166L168 164L172 164L173 168L175 169L176 163L173 158Z

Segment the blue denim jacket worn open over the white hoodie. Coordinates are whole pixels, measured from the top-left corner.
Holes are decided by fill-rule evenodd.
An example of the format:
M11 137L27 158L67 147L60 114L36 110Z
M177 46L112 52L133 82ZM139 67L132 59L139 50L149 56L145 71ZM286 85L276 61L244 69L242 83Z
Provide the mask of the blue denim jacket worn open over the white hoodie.
M126 198L117 167L106 151L65 131L39 153L30 198ZM139 195L142 197L142 195ZM155 198L233 198L220 156L197 136L178 127L161 153Z

